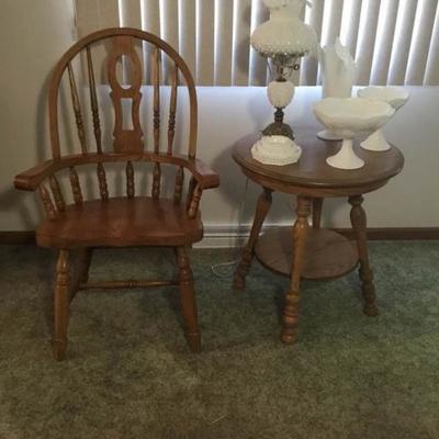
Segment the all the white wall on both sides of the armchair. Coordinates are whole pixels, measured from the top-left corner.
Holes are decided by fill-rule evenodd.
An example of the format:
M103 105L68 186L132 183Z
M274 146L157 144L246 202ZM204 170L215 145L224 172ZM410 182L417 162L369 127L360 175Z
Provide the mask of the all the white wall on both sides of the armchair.
M32 229L40 211L33 194L15 191L13 176L48 158L45 83L47 75L71 43L70 0L2 0L0 3L0 230ZM203 195L203 218L211 228L235 229L251 221L258 188L250 183L244 203L245 178L230 158L243 135L270 122L272 110L263 88L199 88L199 157L221 173L222 187ZM379 192L367 195L372 227L439 226L438 139L439 88L412 88L412 99L385 132L406 157L403 173ZM313 101L319 89L297 89L288 121L299 133L314 121ZM314 122L313 122L314 123ZM326 205L327 225L348 226L344 201ZM294 203L277 194L269 224L289 223Z

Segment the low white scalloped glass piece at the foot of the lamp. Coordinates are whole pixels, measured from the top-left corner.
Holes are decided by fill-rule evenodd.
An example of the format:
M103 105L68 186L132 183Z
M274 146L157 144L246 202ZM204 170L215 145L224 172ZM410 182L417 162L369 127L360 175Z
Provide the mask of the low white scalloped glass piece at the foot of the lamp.
M251 147L251 157L263 165L295 164L301 155L302 148L285 136L262 136Z

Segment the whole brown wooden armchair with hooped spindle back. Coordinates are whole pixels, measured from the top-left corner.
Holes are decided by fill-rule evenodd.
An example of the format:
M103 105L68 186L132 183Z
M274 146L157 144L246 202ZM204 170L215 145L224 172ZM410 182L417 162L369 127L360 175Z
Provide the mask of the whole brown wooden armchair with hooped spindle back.
M98 46L108 49L106 71L109 86L101 86L95 80L93 57ZM151 54L153 113L151 148L147 148L144 131L140 126L140 100L143 68L138 50L148 46ZM102 54L102 52L101 52ZM161 58L169 60L170 87L169 114L165 120L167 130L160 130L160 90L164 90L160 77ZM131 82L123 85L117 79L123 63L130 61ZM78 65L83 67L85 87L78 87ZM75 67L76 66L76 67ZM80 70L80 69L79 69ZM180 79L183 79L189 95L189 130L187 155L175 154L177 94ZM67 124L69 117L61 117L63 85L70 89L71 115L74 131L77 132L80 147L78 154L64 154L66 144L61 142L61 120ZM81 83L82 85L82 83ZM114 108L111 111L114 124L113 138L105 143L105 131L101 128L102 110L99 105L100 91L109 90ZM85 98L87 97L87 99ZM125 127L123 101L131 101L130 128ZM59 105L58 105L59 104ZM58 108L59 106L59 108ZM109 106L109 105L106 105ZM87 108L89 110L87 110ZM196 304L193 278L188 259L187 248L203 237L203 225L199 204L204 189L216 188L218 176L195 158L198 108L196 93L191 72L180 55L157 36L134 29L108 29L90 34L78 41L56 65L48 92L49 128L52 140L50 160L15 177L18 189L37 191L47 219L36 230L40 246L56 248L58 259L54 292L54 339L53 351L57 360L65 357L67 347L67 328L69 304L78 290L88 288L136 288L179 284L182 311L187 325L187 338L192 351L200 350L200 329L198 325ZM87 110L87 111L86 111ZM88 123L88 119L90 122ZM142 117L144 119L144 117ZM76 126L75 126L76 125ZM90 126L90 130L88 130ZM113 126L112 126L113 128ZM166 136L160 132L165 131ZM68 136L66 136L68 137ZM177 143L177 142L176 142ZM145 145L144 145L145 144ZM166 146L161 151L160 145ZM183 143L185 144L185 142ZM70 146L71 149L71 146ZM183 150L185 148L183 147ZM133 166L133 162L138 162ZM122 164L126 169L126 195L111 196L105 167ZM148 164L150 164L148 166ZM93 165L92 176L82 173ZM162 168L172 168L171 191L169 196L160 194L165 184ZM80 168L77 172L77 168ZM150 196L136 194L135 171L138 168L150 168L153 176ZM168 172L169 173L169 172ZM184 175L191 176L189 184ZM88 178L87 191L82 191L80 180ZM90 179L97 182L97 193L90 195ZM169 178L168 178L169 180ZM188 185L188 188L185 188ZM65 194L70 188L71 202L67 203ZM168 188L169 189L169 188ZM161 191L164 192L164 191ZM86 196L89 194L89 196ZM88 270L92 249L95 247L127 246L166 246L173 247L177 258L179 279L143 280L116 282L89 282ZM75 250L75 251L72 251ZM79 269L71 270L72 255L80 255ZM76 256L75 256L76 258ZM75 259L77 261L77 259ZM74 273L70 273L72 271Z

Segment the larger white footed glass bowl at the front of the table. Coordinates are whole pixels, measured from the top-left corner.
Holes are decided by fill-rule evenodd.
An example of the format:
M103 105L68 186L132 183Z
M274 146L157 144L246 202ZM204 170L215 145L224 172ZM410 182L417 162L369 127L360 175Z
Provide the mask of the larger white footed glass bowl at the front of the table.
M360 98L326 98L313 109L318 121L344 139L341 149L326 159L339 169L363 167L364 161L353 151L352 139L360 133L376 131L395 113L386 102Z

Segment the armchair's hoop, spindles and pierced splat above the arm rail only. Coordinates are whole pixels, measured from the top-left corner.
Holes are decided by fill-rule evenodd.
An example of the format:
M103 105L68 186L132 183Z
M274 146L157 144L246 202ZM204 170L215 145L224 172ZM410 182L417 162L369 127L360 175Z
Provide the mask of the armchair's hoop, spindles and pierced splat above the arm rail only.
M98 105L95 71L93 67L93 46L101 42L110 43L110 50L106 57L108 80L111 88L111 100L114 106L114 153L142 153L144 150L143 130L139 119L139 108L142 100L140 88L143 86L144 72L138 52L135 49L138 42L145 42L153 46L153 66L151 81L154 87L154 153L158 154L160 145L160 70L161 70L161 53L165 53L171 60L171 93L168 115L168 147L167 154L172 155L177 94L180 75L189 91L190 102L190 126L188 138L188 156L194 158L196 154L196 124L198 124L198 106L196 93L192 75L181 58L181 56L165 41L156 35L128 27L106 29L92 33L78 41L61 57L55 67L52 82L49 87L49 123L50 123L50 140L53 158L57 159L61 156L59 142L59 123L58 123L58 94L59 85L64 75L68 76L70 86L71 102L75 112L77 132L82 154L97 151L102 154L102 133L100 124L100 112ZM82 57L81 57L82 55ZM81 57L87 64L88 86L90 92L90 109L93 121L95 149L87 144L85 132L85 109L81 108L78 92L77 80L72 68L74 58ZM128 87L122 85L117 79L119 61L124 58L125 63L131 64L131 85ZM123 127L123 100L132 101L132 130Z

